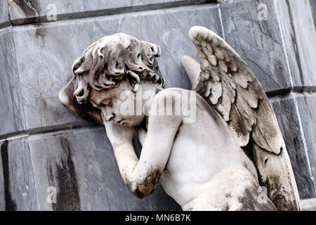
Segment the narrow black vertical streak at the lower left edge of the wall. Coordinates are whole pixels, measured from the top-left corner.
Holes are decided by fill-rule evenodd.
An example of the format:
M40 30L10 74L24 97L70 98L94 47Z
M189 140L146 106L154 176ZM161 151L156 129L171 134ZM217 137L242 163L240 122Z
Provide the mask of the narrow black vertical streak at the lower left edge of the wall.
M4 199L6 202L6 211L16 211L16 204L12 200L11 191L10 191L10 174L8 167L8 140L4 141L1 145L1 160L2 160L2 168L4 172Z

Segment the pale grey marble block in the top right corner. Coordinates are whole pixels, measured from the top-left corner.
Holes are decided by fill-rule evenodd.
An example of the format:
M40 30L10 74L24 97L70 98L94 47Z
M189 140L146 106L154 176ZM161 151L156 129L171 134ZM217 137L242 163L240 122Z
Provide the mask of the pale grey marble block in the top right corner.
M275 1L281 20L293 86L315 91L316 32L308 1Z

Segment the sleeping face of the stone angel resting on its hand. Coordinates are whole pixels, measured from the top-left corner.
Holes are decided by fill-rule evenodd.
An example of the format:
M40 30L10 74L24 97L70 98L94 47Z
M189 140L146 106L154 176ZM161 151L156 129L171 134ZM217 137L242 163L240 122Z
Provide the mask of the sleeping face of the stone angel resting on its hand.
M92 89L89 101L94 107L102 111L103 120L112 121L128 127L136 127L143 122L145 115L136 115L136 113L126 115L126 113L121 110L122 104L124 104L124 106L136 105L136 98L133 97L134 93L131 91L132 89L133 87L126 81L122 81L119 86L114 89L101 91Z

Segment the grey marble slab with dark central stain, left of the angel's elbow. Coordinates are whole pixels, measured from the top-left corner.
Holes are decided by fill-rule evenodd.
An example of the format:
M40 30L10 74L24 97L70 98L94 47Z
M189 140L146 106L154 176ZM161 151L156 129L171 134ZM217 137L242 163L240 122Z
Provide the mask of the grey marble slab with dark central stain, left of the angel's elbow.
M48 186L59 188L57 202L62 203L57 204L69 206L75 197L76 207L72 210L180 210L161 185L143 200L135 198L121 179L103 127L33 135L29 138L29 145L39 210L65 209L46 203ZM69 191L60 188L58 167L65 169L62 181L73 192L69 196ZM66 199L60 199L62 197Z

